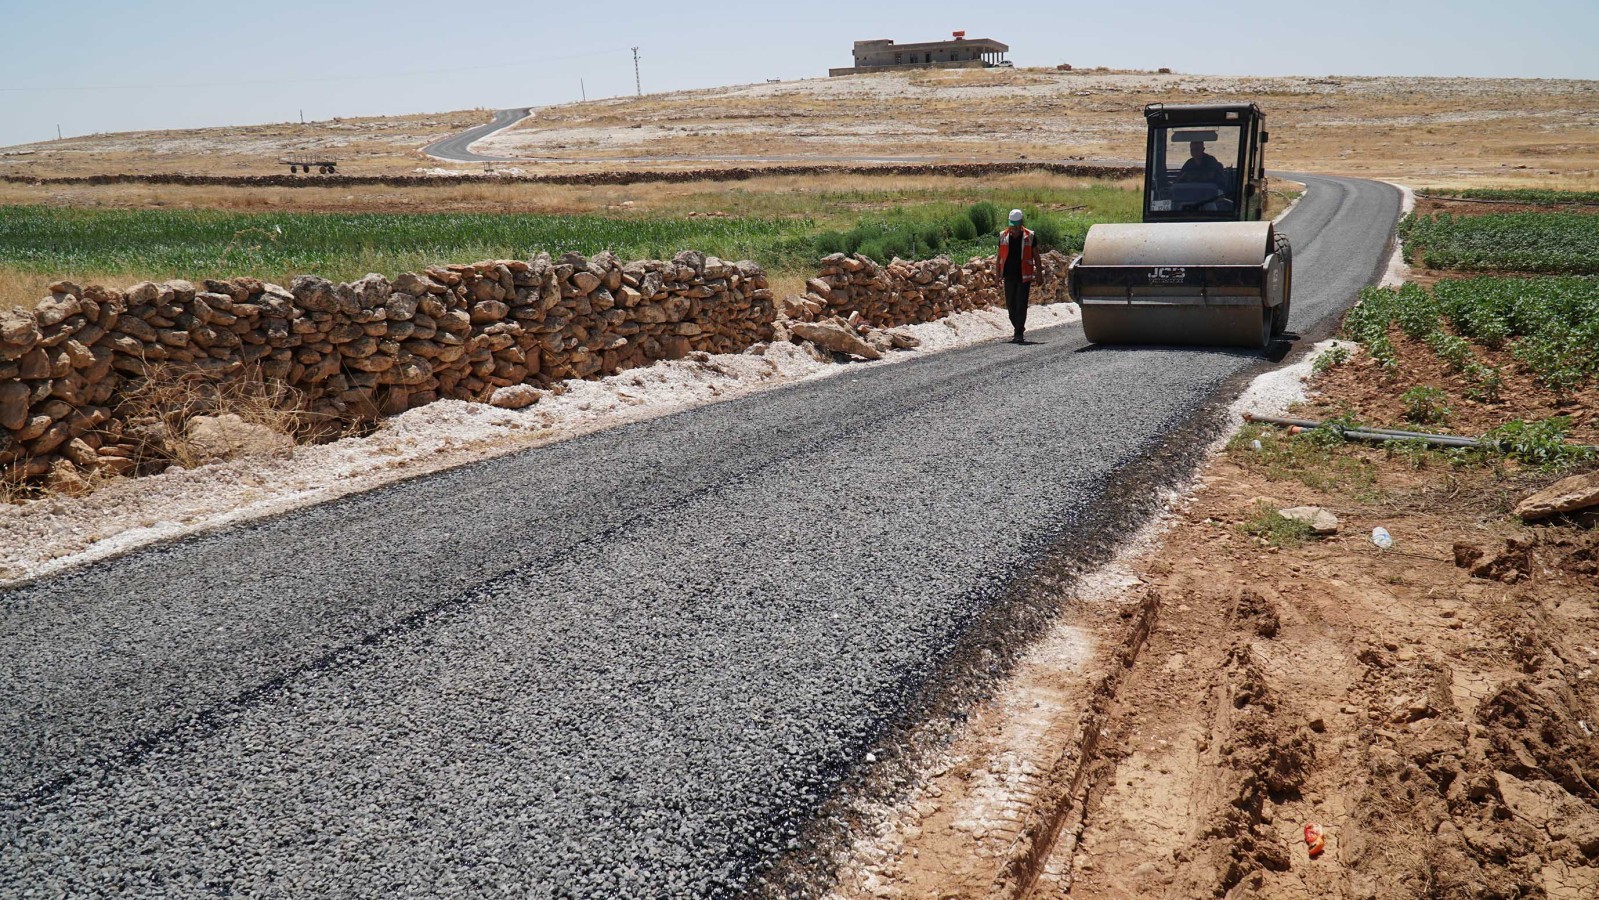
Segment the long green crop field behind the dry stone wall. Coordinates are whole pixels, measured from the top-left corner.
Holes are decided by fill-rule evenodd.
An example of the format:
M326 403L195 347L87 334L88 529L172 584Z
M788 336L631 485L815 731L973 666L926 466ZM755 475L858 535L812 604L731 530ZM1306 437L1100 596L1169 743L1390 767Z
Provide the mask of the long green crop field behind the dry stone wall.
M732 214L233 213L0 206L0 305L32 304L56 278L136 281L251 275L333 280L397 275L427 265L528 259L547 251L609 249L622 259L699 249L753 259L780 273L814 270L843 249L894 256L993 253L1011 206L1028 211L1041 245L1076 249L1094 222L1135 221L1138 190L1116 184L1007 187L977 205L959 190L833 190L689 195L684 203Z

